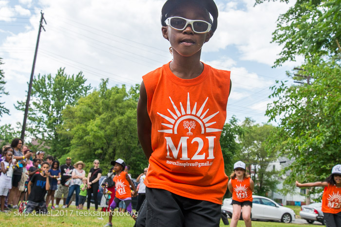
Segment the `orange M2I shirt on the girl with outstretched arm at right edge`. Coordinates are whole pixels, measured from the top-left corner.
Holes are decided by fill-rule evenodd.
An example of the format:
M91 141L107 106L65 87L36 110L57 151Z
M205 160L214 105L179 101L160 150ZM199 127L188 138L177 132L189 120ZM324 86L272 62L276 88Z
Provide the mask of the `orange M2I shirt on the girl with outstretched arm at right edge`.
M341 212L341 188L336 187L336 185L330 184L328 184L327 187L324 187L322 195L322 212Z

